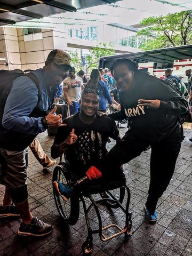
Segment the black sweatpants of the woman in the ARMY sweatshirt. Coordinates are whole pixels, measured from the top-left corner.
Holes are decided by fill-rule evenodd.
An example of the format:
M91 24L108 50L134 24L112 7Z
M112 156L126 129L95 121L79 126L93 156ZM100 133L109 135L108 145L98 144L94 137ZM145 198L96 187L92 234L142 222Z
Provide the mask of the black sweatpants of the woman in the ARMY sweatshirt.
M151 157L147 207L153 214L158 198L166 190L174 173L175 163L181 148L180 127L175 129L167 138L158 142L141 138L131 130L127 131L122 140L111 148L98 167L103 176L106 175L115 179L118 173L113 170L118 170L119 166L139 156L148 146L151 146Z

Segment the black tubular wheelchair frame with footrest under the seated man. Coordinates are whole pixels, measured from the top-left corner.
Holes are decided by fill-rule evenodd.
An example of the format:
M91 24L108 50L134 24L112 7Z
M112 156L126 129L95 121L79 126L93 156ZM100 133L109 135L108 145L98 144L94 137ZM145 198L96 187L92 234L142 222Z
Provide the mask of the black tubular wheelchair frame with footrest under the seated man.
M60 157L60 160L61 160L61 157ZM59 179L60 179L60 175L64 175L65 179L67 181L67 184L71 183L71 180L69 180L67 178L67 177L69 177L70 173L67 170L67 167L65 165L67 165L65 162L60 162L58 164L58 166L55 167L55 169L53 171L53 181L55 179L58 179L58 175L59 175ZM123 189L126 189L126 191L127 191L126 207L123 207L122 203L119 202L119 201L123 201L124 194L123 194L123 199L121 198L121 200L118 201L118 199L116 199L115 196L109 190L103 190L102 193L98 192L97 194L100 194L100 196L102 198L102 199L98 199L98 200L95 200L92 197L92 195L90 195L90 194L89 195L84 194L82 190L81 190L80 194L78 195L78 198L80 200L78 198L75 198L75 197L73 198L73 196L71 197L71 202L73 202L73 200L74 200L75 203L73 202L72 206L71 206L71 203L70 203L70 215L73 214L73 212L71 212L71 209L74 208L74 205L76 205L76 206L75 206L75 210L74 209L73 210L74 211L79 211L79 202L82 202L82 204L83 204L83 210L84 210L84 214L85 214L86 226L87 226L87 231L88 231L86 241L82 244L82 251L85 254L90 253L93 249L93 234L98 233L101 241L103 241L103 242L109 241L110 239L112 239L116 236L122 235L122 234L125 234L125 238L127 238L130 235L131 227L132 227L132 219L131 219L132 214L129 212L129 205L130 205L130 198L131 198L130 189L126 185L124 185L122 187L119 187L119 188L120 188L120 194L122 193ZM57 194L56 191L54 191L54 187L53 187L53 194L54 194L55 204L57 206L58 212L59 212L61 218L63 219L63 221L67 222L69 225L75 225L75 223L78 221L79 212L78 213L75 212L76 216L72 221L70 219L64 218L63 214L61 214L61 207L62 206L61 206L61 204L58 205L58 202L60 202L60 199L58 200L57 197L59 197L59 195ZM111 198L109 198L108 195ZM86 206L84 197L89 198L90 201L91 201L91 204L88 207ZM107 204L108 207L109 207L109 204L110 204L111 208L120 208L125 213L125 226L124 226L123 229L120 228L116 224L110 224L106 227L102 227L102 218L101 218L101 214L99 212L99 207L98 207L98 205L101 204L101 203L104 203L105 205ZM114 207L113 207L113 204L114 204ZM92 209L92 207L94 207L95 212L96 212L97 217L98 217L98 221L99 221L99 228L98 229L92 229L92 227L90 225L89 212ZM105 230L107 230L111 227L116 228L118 230L118 232L111 235L111 236L108 236L108 237L105 236L105 234L103 234L103 231L105 231Z

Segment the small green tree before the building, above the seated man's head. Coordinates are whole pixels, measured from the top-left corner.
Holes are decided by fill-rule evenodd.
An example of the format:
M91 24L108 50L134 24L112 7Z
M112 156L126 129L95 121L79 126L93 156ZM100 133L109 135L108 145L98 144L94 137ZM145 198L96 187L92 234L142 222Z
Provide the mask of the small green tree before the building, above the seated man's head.
M91 73L91 70L98 68L98 62L100 57L114 55L115 50L112 44L99 43L93 50L90 51L90 55L86 57L86 73Z

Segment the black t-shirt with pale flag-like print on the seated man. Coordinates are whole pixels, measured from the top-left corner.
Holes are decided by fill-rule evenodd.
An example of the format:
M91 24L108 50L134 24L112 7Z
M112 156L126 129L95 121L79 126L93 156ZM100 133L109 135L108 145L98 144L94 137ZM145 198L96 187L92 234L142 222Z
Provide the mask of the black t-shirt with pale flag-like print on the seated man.
M92 124L84 124L79 113L65 119L67 126L61 126L55 136L54 144L65 141L72 131L78 139L66 150L66 159L73 166L79 177L82 177L91 165L98 165L102 157L107 154L106 143L108 138L116 140L119 135L115 121L104 116L96 116Z

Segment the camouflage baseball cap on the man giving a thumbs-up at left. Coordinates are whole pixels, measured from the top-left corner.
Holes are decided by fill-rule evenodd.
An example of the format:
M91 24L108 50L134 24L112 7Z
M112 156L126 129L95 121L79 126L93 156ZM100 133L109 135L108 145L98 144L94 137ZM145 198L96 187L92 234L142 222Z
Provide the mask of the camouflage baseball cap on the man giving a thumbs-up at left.
M67 52L55 49L49 53L46 60L53 60L57 65L70 65L70 56Z

